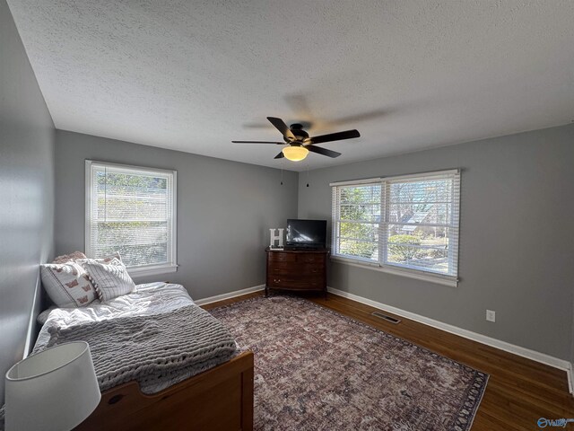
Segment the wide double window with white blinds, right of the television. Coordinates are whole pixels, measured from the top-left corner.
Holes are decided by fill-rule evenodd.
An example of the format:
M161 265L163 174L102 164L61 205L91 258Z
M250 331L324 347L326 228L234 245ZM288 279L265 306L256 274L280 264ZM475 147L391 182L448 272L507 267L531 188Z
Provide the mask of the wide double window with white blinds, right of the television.
M458 171L331 186L335 259L456 285Z

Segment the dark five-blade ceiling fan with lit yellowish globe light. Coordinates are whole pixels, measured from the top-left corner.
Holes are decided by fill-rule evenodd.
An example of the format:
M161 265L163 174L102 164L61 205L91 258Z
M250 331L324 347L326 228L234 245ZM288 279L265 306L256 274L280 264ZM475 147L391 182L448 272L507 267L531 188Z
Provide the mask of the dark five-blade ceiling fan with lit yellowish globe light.
M341 153L336 151L327 150L315 146L315 144L323 144L325 142L342 141L344 139L351 139L352 137L361 136L357 130L345 130L344 132L329 133L328 135L309 137L309 133L303 130L303 126L299 123L291 124L291 128L287 127L283 119L276 119L274 117L267 117L267 119L279 130L283 135L285 142L272 142L272 141L231 141L234 144L275 144L285 145L283 151L275 155L275 159L282 159L285 157L292 162L299 162L307 157L309 151L311 153L323 154L327 157L338 157Z

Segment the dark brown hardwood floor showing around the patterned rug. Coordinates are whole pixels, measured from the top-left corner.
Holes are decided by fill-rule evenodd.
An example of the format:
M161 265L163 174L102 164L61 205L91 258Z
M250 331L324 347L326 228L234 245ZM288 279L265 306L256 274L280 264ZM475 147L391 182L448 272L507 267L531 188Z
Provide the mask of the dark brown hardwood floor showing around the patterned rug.
M206 304L204 308L209 310L258 295L263 294L243 295ZM341 296L329 294L327 300L322 295L302 296L357 321L368 323L379 330L490 374L483 401L474 418L473 431L539 430L536 425L539 418L574 418L574 398L568 391L567 375L564 371L416 321L394 316L389 312L385 313L400 319L401 322L393 324L384 321L370 314L376 311L376 308ZM568 424L565 429L569 427L574 430L574 423ZM546 427L546 429L558 428Z

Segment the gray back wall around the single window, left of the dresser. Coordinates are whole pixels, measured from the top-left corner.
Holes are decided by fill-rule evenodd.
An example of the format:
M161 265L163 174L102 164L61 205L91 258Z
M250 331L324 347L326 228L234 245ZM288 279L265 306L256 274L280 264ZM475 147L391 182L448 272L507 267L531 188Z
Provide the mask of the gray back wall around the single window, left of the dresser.
M57 130L56 252L83 251L84 160L178 171L178 272L194 299L265 283L269 228L297 216L298 174Z

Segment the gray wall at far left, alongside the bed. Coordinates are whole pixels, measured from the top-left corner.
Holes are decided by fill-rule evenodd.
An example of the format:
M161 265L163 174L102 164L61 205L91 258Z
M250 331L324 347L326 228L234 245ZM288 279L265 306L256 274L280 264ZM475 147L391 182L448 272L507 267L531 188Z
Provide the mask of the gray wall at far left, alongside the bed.
M38 265L52 254L55 131L4 0L0 0L0 41L0 404L3 404L4 374L27 353L30 314L39 307L40 301L35 301L40 292Z

